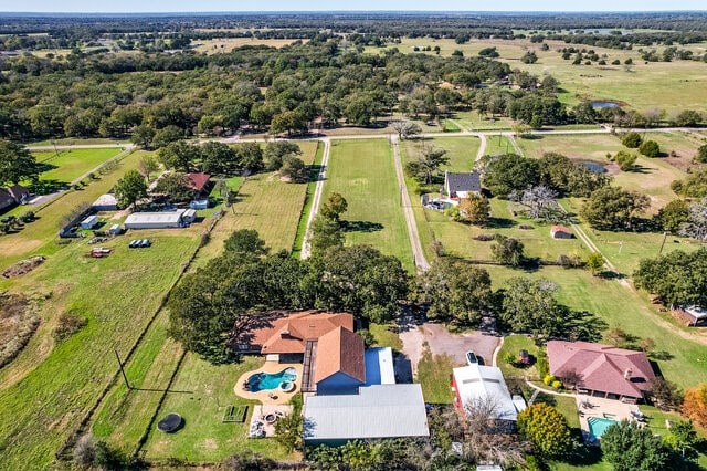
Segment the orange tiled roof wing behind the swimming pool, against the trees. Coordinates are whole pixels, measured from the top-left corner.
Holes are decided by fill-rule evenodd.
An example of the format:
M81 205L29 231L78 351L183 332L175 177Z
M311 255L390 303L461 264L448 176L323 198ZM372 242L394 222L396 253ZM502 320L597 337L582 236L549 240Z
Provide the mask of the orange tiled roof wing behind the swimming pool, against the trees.
M337 327L354 331L354 316L310 311L285 314L253 329L250 344L260 345L263 355L304 353L307 341L316 341Z

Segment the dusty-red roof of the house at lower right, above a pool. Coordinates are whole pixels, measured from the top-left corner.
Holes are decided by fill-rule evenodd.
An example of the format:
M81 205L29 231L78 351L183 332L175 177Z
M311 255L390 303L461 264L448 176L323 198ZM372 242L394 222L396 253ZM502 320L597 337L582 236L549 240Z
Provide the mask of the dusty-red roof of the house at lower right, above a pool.
M548 342L548 360L553 376L576 371L579 387L641 398L655 378L643 352L590 342Z

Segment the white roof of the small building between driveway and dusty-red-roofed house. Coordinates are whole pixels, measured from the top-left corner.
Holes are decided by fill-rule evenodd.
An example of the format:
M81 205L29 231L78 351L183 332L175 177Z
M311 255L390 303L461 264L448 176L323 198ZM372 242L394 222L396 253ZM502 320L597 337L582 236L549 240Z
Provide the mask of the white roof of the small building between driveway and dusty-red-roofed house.
M518 411L500 368L475 364L454 368L452 374L462 407L468 402L490 400L496 419L516 420Z

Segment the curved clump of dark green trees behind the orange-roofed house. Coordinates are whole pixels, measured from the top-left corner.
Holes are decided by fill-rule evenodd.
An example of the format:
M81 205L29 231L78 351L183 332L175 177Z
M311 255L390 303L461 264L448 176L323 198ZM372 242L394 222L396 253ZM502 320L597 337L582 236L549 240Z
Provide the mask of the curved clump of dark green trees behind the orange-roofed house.
M370 247L330 247L307 261L268 254L253 230L234 232L223 255L182 279L169 300L171 333L211 362L234 357L254 313L323 308L386 322L400 312L409 275Z

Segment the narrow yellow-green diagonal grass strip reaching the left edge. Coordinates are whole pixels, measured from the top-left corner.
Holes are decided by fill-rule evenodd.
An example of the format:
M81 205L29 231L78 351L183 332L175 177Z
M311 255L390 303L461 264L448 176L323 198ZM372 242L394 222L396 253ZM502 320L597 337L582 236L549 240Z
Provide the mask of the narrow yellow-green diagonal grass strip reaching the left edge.
M0 266L4 268L33 254L51 255L60 250L56 233L63 218L81 205L89 205L110 190L127 170L137 168L140 157L146 154L143 150L130 154L120 159L115 170L99 176L81 190L67 191L42 209L21 206L10 211L9 214L20 216L33 210L38 220L25 224L20 232L0 237Z

